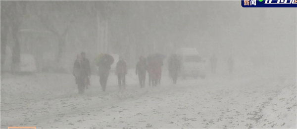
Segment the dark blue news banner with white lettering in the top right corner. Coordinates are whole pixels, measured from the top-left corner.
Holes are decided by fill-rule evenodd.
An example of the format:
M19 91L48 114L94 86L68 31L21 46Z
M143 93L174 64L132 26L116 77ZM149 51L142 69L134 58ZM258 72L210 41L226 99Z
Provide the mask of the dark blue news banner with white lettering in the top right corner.
M297 7L297 0L242 0L243 7Z

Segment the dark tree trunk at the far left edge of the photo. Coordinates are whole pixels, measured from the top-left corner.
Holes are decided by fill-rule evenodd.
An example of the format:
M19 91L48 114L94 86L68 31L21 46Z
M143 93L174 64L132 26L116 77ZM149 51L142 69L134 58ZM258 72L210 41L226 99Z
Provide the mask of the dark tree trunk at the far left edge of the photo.
M1 66L5 63L5 55L6 55L6 40L7 40L7 34L9 30L9 25L6 21L1 22L3 28L1 28L1 43L0 43L0 49L1 49Z

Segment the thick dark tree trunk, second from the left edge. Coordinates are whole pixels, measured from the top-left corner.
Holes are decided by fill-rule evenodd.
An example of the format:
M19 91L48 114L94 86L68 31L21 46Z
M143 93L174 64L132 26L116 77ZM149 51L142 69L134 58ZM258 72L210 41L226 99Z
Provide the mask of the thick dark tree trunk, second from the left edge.
M12 39L14 42L14 46L12 48L12 65L11 65L11 72L20 72L20 62L21 62L21 49L20 49L20 43L18 39L18 24L16 22L12 22L11 26L11 34Z

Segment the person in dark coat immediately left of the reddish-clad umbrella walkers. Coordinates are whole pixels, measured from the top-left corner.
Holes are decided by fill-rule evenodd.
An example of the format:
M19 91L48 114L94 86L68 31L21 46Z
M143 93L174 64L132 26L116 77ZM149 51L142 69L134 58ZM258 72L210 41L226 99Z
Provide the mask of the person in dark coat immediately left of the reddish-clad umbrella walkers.
M143 56L140 56L139 61L136 64L136 75L138 75L140 87L145 87L146 74L147 74L147 63Z

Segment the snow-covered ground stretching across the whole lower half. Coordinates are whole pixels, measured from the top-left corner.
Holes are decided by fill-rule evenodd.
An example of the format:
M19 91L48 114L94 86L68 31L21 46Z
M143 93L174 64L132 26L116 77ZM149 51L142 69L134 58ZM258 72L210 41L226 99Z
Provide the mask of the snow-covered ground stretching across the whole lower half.
M237 74L139 88L134 71L119 91L110 74L78 94L72 75L1 75L1 129L37 128L297 128L296 75Z

